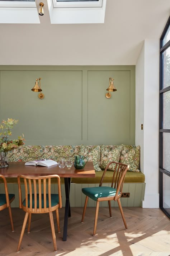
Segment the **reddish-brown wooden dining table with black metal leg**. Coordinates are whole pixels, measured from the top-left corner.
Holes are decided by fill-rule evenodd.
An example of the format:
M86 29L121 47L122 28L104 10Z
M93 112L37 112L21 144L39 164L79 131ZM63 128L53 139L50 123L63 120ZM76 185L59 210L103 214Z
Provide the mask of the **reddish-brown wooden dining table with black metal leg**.
M63 241L67 240L68 217L71 216L70 209L70 182L71 178L94 178L95 171L93 162L87 162L84 169L77 170L74 165L71 168L60 168L58 165L50 167L25 165L25 162L9 162L9 167L0 168L0 174L6 178L16 178L18 175L45 176L58 174L60 178L64 178L65 183L65 216L63 226Z

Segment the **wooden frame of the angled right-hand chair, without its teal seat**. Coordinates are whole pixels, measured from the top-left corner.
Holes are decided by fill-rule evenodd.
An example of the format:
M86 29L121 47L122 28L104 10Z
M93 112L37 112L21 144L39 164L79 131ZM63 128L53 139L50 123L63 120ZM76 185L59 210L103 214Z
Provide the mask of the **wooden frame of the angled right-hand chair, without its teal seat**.
M118 162L114 162L114 161L108 163L108 165L106 166L106 168L103 172L103 175L101 177L99 187L101 187L101 185L103 183L104 175L105 175L106 171L108 170L109 165L111 165L112 163L115 163L115 168L114 168L114 171L113 171L113 178L112 178L111 187L113 188L113 184L114 184L114 188L116 189L116 194L115 194L115 196L100 197L100 198L97 199L93 235L96 234L97 220L98 220L98 213L99 213L99 202L101 202L101 201L108 201L110 218L112 217L112 210L111 210L110 201L114 200L114 201L118 202L118 206L119 206L119 209L121 211L123 223L124 223L125 228L127 229L127 224L126 224L126 220L124 218L120 197L122 196L124 178L125 178L126 172L129 170L129 165L124 165L123 163L118 163ZM83 223L83 221L84 221L84 216L85 216L86 207L87 207L87 204L88 204L88 199L89 199L89 197L86 196L81 223Z

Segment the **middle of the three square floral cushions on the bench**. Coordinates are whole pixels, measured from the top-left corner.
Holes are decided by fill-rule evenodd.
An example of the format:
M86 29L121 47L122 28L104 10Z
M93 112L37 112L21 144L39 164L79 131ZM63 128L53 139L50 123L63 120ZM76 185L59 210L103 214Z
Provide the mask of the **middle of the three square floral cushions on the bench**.
M100 168L104 170L105 167L108 165L108 163L112 161L119 162L121 151L122 151L122 145L118 145L118 146L101 145ZM115 164L112 163L109 166L108 170L114 171L114 167L115 167Z

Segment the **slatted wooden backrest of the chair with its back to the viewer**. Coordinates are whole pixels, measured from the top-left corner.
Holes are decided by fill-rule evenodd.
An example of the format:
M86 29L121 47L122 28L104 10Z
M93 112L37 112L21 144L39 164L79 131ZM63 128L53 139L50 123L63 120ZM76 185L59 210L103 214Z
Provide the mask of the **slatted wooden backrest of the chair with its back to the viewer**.
M25 175L19 175L18 176L18 185L19 185L19 203L20 208L22 208L22 190L20 189L20 178L24 179L24 185L25 185L25 208L28 212L50 212L52 211L51 206L51 178L57 178L58 180L58 198L59 202L56 204L59 208L62 207L62 200L61 200L61 185L60 185L60 177L57 174L54 175L47 175L47 176L25 176ZM48 203L47 206L47 189L46 184L48 179ZM30 204L28 206L28 187L27 187L27 180L29 184L29 194L30 194ZM33 206L33 189L32 189L32 183L33 180L33 187L34 187L34 206ZM38 184L36 183L36 180L38 180ZM43 180L43 185L41 186L41 181ZM38 186L37 186L38 185ZM37 192L39 194L39 207L37 207ZM42 200L44 201L43 208L42 208ZM29 208L29 210L28 210Z

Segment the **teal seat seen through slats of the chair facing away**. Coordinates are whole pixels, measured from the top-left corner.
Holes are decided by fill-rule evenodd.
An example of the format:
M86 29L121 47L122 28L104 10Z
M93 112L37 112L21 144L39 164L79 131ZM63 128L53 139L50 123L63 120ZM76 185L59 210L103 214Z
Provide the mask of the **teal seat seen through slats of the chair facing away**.
M46 194L46 200L47 200L47 208L49 207L49 200L48 200L48 194ZM44 208L44 195L41 194L41 203L42 203L42 208ZM59 203L59 197L58 194L51 194L51 207L57 205ZM34 194L32 194L32 208L35 208L34 205ZM25 199L23 201L23 206L26 206ZM30 194L28 194L28 208L30 208ZM39 208L39 194L37 194L37 208Z

